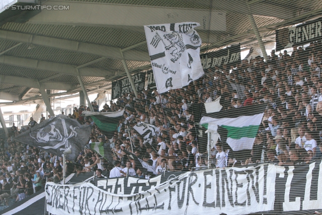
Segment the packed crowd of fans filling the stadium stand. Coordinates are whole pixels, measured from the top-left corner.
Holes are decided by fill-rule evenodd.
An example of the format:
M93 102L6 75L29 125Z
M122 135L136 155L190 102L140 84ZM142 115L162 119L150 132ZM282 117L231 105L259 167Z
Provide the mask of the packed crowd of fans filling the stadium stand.
M159 95L156 90L123 95L102 110L92 102L94 111L112 112L124 109L124 118L118 123L113 137L82 112L90 110L83 105L68 115L81 124L92 127L92 133L83 143L84 151L77 160L67 161L64 167L61 155L47 154L28 143L21 144L9 138L8 147L0 143L0 200L14 196L23 199L38 189L45 181L59 183L62 170L67 175L96 172L96 177L152 177L136 168L128 153L152 167L156 174L164 171L191 171L208 166L216 168L240 167L259 162L276 165L307 164L321 160L322 122L322 43L311 43L307 48L293 47L291 55L284 51L276 55L272 50L270 60L263 57L242 60L237 65L206 68L203 78L188 86ZM232 89L231 84L245 86L243 92ZM211 149L208 160L207 140L199 120L203 103L221 96L221 111L249 106L266 109L252 151L231 153L225 142L218 141ZM42 121L42 120L41 120ZM133 126L145 122L156 127L156 135L149 139L140 135ZM30 126L37 122L31 118ZM40 122L41 123L41 122ZM10 135L18 135L15 125ZM92 142L104 142L110 147L113 162L91 150ZM5 150L6 149L6 150ZM233 156L231 156L233 155ZM102 171L106 174L102 175ZM145 172L145 173L144 173Z

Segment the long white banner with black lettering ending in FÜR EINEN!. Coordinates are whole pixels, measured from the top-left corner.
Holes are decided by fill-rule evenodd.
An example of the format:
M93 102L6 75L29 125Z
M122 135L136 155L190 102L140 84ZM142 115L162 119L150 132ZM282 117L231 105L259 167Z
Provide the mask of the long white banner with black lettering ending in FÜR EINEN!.
M273 210L274 165L187 172L161 182L115 178L91 183L46 183L53 214L248 214ZM171 179L170 179L171 178Z

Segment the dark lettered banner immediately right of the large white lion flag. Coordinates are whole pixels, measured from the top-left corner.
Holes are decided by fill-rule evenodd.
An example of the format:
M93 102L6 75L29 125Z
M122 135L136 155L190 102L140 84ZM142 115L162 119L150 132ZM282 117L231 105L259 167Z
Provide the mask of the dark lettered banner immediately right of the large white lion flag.
M223 64L226 64L227 66L234 66L241 61L240 45L233 45L219 51L201 54L200 59L204 69L214 68L215 66L219 66L220 68Z

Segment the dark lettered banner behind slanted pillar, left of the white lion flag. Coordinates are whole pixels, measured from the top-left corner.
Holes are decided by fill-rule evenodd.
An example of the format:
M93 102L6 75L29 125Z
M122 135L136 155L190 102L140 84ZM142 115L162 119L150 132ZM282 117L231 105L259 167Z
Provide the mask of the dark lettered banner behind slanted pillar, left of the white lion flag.
M137 92L144 90L145 73L138 73L132 76L133 83ZM122 94L128 95L133 92L128 77L112 82L112 99L122 97Z

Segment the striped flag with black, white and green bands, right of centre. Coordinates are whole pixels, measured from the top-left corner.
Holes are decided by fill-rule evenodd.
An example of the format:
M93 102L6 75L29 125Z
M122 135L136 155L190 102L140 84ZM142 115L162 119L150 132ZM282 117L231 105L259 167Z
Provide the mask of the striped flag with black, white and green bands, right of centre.
M261 106L248 106L208 114L201 118L200 124L207 129L211 127L211 132L218 133L233 151L251 150L263 115Z

